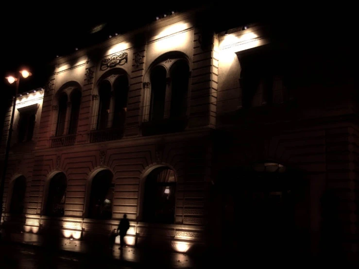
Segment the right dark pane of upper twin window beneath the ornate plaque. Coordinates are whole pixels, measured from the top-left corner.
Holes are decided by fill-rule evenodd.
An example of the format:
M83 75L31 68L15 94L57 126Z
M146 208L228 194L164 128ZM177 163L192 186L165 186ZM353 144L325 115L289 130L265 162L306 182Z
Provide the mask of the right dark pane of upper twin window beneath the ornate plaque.
M114 128L123 128L126 118L128 79L125 75L120 75L114 85L115 108L112 126Z

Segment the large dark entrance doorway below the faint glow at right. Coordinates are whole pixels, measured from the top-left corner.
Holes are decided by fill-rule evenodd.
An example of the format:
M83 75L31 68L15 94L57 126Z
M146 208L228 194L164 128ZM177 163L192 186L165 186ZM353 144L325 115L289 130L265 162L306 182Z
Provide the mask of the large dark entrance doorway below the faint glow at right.
M249 257L294 254L295 195L299 173L274 162L232 169L222 183L222 233L224 246Z

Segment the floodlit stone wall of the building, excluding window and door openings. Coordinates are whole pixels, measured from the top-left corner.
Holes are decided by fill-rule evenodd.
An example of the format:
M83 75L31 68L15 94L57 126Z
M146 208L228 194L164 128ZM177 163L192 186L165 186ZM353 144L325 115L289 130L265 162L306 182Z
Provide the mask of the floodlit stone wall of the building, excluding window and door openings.
M245 180L240 176L242 168L271 161L300 171L295 182L300 189L295 227L306 237L302 242L305 252L316 255L322 250L325 221L321 197L334 190L340 199L342 250L354 257L358 252L359 127L355 120L358 103L351 98L351 84L317 87L288 83L283 77L294 70L294 64L278 61L283 66L272 74L273 92L268 95L261 86L248 107L242 70L251 60L246 59L256 54L256 49L268 47L272 48L271 57L284 58L277 54L275 44L272 46L271 32L253 24L215 33L197 25L196 12L173 14L55 61L44 89L29 94L39 103L34 138L26 147L13 145L2 221L17 223L34 233L52 223L61 227L64 236L80 238L86 233L108 233L127 214L132 244L141 245L148 235L155 235L157 241L176 251L193 245L225 246L225 238L237 233L238 227L227 228L222 218L223 197L232 192L233 197L240 196L237 191ZM164 121L151 122L151 72L159 63L170 70L178 59L189 67L186 115L171 123L171 118L166 118L171 95L166 95ZM291 82L300 81L301 73L293 73ZM100 83L107 80L112 84L122 74L128 78L123 134L118 139L103 134L104 138L94 140L100 117ZM59 94L66 92L70 97L75 89L81 90L76 133L68 134L65 127L64 134L56 136ZM339 89L340 96L332 95ZM111 105L110 101L113 111ZM71 104L67 115L69 111ZM2 145L10 115L9 110ZM68 121L66 118L65 123ZM174 223L149 225L142 221L143 185L148 174L161 166L176 174ZM103 169L114 175L112 219L89 219L91 181ZM232 172L228 175L228 171ZM44 214L44 204L51 178L58 172L63 172L68 182L64 216L50 218ZM14 181L20 175L27 182L25 203L22 217L15 218L9 208Z

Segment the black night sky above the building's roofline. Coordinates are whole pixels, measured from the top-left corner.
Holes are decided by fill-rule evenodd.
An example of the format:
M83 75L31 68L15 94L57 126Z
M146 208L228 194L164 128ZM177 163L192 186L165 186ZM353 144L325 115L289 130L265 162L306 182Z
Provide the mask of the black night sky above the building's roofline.
M128 3L129 2L129 3ZM36 5L35 2L16 3L11 2L2 7L0 16L2 25L1 36L1 65L0 74L5 77L14 73L21 67L27 67L33 76L20 83L19 92L28 91L43 86L51 68L48 63L56 55L67 55L78 47L83 48L87 44L99 43L108 38L109 34L125 33L134 28L141 27L155 20L156 16L164 13L188 10L193 5L212 6L213 22L217 31L224 31L223 27L232 28L243 23L257 21L278 22L278 25L286 25L288 21L300 25L297 29L311 31L313 26L309 20L314 14L318 20L328 14L324 7L317 12L312 6L306 6L304 2L290 6L275 6L272 2L251 3L245 1L95 1L90 2L65 2L49 1L48 6ZM312 16L313 17L313 16ZM343 20L336 20L337 16L331 16L328 22L330 27L344 24ZM89 30L99 23L106 23L106 27L97 34L89 34ZM326 23L326 22L325 22ZM222 27L222 28L221 28ZM226 28L226 29L227 29ZM294 33L294 31L291 31ZM2 80L1 91L12 94L14 86Z

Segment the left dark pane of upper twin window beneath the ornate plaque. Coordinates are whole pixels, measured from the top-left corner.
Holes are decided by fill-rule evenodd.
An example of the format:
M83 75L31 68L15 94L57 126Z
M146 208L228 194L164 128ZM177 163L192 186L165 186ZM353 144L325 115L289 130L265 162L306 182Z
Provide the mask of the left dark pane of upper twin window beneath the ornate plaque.
M99 87L99 114L97 118L97 129L102 130L107 128L108 116L110 113L110 100L111 100L111 84L109 81L104 80Z

